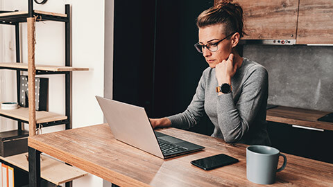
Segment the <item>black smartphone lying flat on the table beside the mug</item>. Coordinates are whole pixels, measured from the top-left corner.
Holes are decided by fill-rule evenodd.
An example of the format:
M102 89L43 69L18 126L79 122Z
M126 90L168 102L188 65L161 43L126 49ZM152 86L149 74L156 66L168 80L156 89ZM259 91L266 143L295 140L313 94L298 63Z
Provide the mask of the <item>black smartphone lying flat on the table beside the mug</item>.
M198 166L203 170L212 170L221 166L227 166L232 163L237 163L238 161L238 159L230 157L226 154L216 154L212 157L206 157L203 159L191 161L191 164L193 164L194 166Z

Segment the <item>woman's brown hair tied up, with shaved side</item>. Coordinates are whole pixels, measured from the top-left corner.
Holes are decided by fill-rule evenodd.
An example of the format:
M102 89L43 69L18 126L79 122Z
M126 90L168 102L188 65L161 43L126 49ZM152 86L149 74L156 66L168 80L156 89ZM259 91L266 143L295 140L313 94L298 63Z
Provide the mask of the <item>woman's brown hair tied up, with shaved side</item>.
M244 32L243 9L239 3L232 3L232 0L222 0L215 6L201 12L196 19L196 26L204 28L214 24L224 24L225 35L239 33L240 37L246 35Z

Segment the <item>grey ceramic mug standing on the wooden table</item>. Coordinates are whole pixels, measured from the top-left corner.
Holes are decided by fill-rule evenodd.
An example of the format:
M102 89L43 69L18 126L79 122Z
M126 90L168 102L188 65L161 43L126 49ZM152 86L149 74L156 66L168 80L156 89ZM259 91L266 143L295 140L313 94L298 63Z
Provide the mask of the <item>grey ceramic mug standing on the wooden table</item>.
M278 168L279 157L284 162ZM276 172L287 165L287 157L279 150L265 145L250 145L246 148L246 177L256 184L273 184Z

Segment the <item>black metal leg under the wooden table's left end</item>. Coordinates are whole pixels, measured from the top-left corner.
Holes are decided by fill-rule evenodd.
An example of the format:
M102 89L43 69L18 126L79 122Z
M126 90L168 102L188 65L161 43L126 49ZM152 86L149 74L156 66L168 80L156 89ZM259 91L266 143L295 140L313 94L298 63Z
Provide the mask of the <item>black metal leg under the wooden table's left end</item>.
M40 187L40 151L28 148L29 153L29 186Z

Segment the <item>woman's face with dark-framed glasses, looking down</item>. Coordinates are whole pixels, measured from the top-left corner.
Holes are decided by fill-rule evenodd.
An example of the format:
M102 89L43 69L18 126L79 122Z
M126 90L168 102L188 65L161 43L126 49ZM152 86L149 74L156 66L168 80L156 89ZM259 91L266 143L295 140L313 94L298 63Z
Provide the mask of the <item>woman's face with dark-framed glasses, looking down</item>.
M225 37L223 24L199 28L199 44L201 45L219 42ZM218 49L214 52L208 50L207 47L203 48L203 56L211 68L215 68L216 64L219 64L222 60L228 59L232 51L232 39L230 39L230 37L223 39L217 46Z

